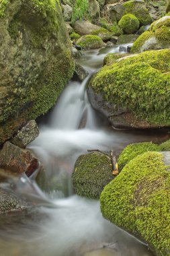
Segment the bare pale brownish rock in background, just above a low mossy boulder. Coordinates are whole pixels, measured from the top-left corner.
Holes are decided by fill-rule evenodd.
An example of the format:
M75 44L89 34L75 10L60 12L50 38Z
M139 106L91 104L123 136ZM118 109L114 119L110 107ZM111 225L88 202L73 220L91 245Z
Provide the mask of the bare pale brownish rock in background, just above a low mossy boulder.
M94 30L99 30L101 27L92 24L87 20L77 20L73 25L74 30L81 36L85 34L91 34Z

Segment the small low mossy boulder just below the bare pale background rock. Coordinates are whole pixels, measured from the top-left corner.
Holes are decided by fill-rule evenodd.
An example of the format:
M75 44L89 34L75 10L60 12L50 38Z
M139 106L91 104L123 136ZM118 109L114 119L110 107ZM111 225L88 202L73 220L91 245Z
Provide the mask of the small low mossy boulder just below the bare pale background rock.
M79 44L83 49L99 49L105 46L105 43L99 36L95 35L85 35L81 36L79 40L77 40L77 44Z

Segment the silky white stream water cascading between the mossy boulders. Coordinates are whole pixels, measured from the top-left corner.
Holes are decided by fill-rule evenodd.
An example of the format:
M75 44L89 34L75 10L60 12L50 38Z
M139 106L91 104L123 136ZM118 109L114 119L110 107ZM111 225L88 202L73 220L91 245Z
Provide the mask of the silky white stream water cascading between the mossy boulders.
M119 46L87 51L79 62L89 76L82 83L71 82L42 121L40 135L29 148L44 165L37 177L44 194L26 177L17 183L17 193L36 198L39 206L33 212L1 216L0 256L153 255L146 245L104 220L99 201L74 195L71 185L75 160L88 149L118 154L128 143L169 138L161 130L113 130L91 108L86 92L91 74L101 67L106 53L118 51Z

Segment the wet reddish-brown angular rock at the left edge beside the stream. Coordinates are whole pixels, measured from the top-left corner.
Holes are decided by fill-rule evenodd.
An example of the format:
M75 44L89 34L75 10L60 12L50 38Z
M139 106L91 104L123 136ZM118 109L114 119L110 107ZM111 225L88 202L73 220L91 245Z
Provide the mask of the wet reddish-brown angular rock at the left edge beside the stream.
M26 172L29 177L38 166L38 159L29 150L23 150L8 141L0 151L0 168L9 170L13 175Z

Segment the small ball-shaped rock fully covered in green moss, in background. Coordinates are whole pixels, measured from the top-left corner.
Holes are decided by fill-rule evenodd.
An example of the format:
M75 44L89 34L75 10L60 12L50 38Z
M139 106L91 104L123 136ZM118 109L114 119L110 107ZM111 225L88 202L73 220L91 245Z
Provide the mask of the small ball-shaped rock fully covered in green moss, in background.
M125 34L134 34L139 28L139 21L133 14L124 15L118 22Z

